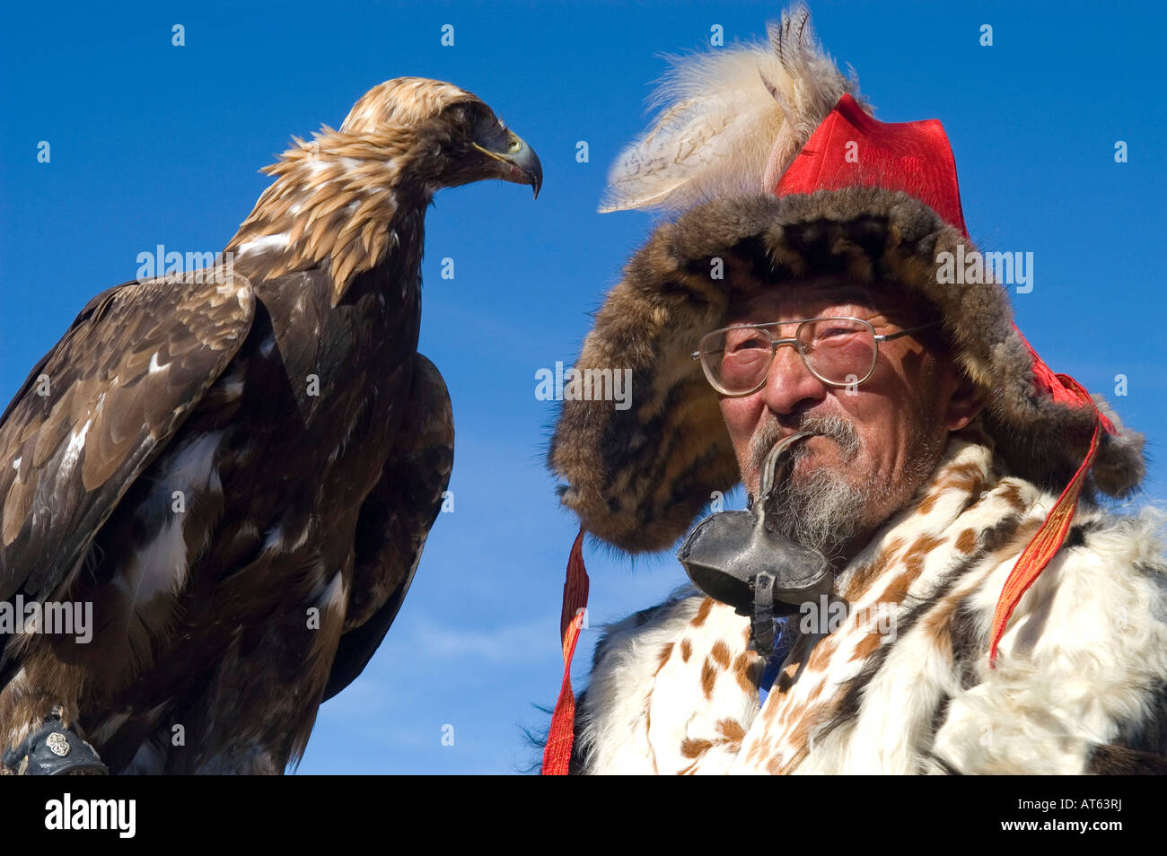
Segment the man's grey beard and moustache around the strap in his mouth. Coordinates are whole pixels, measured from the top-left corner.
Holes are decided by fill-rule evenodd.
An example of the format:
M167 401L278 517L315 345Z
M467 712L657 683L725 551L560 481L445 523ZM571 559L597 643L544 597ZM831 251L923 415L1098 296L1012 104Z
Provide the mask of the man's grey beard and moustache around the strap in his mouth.
M859 452L859 434L845 419L808 416L799 422L798 430L812 431L836 442L844 459L854 458ZM767 452L781 436L781 427L770 422L750 438L749 454L755 469L760 471ZM914 437L914 441L920 454L913 456L913 466L902 473L900 482L900 485L909 484L913 492L935 469L939 458L939 450L928 449L923 437ZM806 445L796 443L789 452L789 464L780 464L780 469L791 472L792 466L806 455ZM862 478L857 486L841 473L826 468L818 468L797 482L788 475L780 478L770 492L766 506L767 524L796 543L817 549L829 561L838 562L848 541L882 522L873 520L873 513L886 507L900 485Z

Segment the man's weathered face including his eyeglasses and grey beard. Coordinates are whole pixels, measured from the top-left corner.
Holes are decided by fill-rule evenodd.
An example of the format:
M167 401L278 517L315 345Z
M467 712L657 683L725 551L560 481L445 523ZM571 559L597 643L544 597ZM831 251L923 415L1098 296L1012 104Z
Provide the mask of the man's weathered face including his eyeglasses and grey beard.
M700 356L752 497L774 444L813 435L794 452L768 519L843 568L911 499L979 402L938 337L927 337L936 324L894 283L792 286L733 307ZM789 350L774 346L780 336Z

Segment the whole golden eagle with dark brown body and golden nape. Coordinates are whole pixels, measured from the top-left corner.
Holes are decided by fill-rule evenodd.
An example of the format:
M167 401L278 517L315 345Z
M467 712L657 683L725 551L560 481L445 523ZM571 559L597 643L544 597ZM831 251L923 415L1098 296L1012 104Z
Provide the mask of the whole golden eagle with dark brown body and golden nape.
M294 142L229 264L96 296L0 416L5 772L280 773L400 608L453 464L426 208L543 170L421 78Z

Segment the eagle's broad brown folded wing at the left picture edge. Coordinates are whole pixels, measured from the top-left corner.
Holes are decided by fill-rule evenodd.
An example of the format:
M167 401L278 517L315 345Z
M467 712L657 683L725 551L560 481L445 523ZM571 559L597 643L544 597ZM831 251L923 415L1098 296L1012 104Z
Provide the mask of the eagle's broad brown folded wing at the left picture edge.
M215 268L126 282L82 309L0 416L0 601L65 581L253 311L246 278Z

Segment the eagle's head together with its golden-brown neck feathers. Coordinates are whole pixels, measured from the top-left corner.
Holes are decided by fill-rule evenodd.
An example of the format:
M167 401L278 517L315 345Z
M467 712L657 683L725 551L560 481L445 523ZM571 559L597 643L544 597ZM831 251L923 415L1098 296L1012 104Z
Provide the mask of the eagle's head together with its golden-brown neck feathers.
M352 276L410 245L434 192L483 178L530 184L543 167L476 96L440 80L399 77L373 86L340 131L324 127L264 171L277 176L228 244L252 275L328 264L334 306ZM412 246L413 244L418 246ZM420 262L419 262L420 264Z

